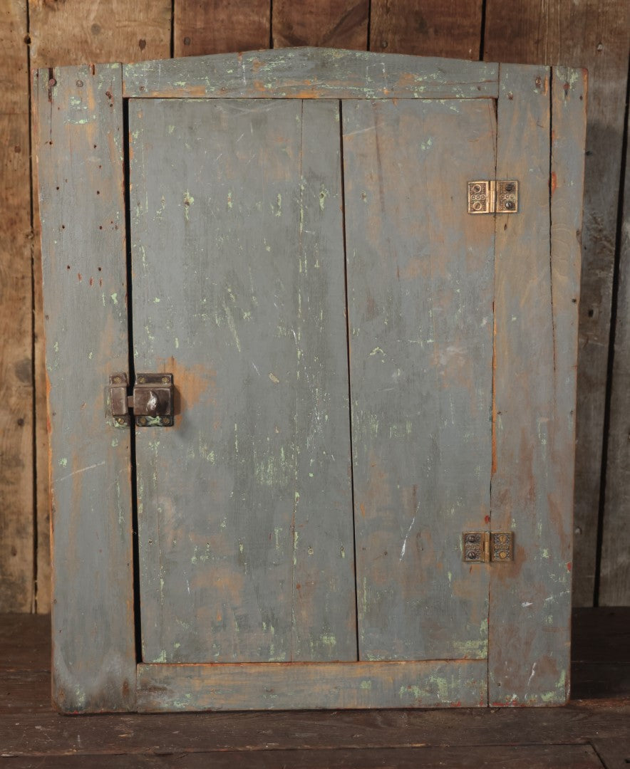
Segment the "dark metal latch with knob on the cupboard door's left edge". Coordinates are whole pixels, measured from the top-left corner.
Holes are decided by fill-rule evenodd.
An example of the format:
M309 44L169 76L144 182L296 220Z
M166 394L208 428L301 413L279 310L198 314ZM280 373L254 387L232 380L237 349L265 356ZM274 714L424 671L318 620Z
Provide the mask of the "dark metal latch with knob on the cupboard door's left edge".
M127 388L124 372L109 377L108 414L115 427L128 427L132 417L141 428L172 427L175 394L172 374L137 374L132 394L128 394Z

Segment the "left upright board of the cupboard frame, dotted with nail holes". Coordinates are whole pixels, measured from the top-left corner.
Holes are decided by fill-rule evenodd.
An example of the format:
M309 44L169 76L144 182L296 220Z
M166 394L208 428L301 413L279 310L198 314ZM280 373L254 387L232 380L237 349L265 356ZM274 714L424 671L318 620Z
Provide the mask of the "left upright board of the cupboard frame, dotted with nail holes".
M128 366L122 68L55 68L52 77L43 69L34 90L48 313L53 697L62 711L124 711L135 704L129 435L109 427L104 413L109 373Z

